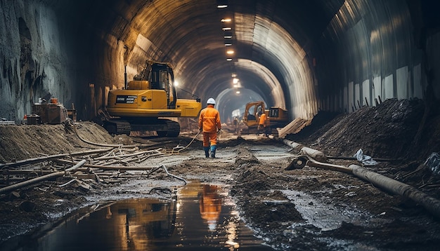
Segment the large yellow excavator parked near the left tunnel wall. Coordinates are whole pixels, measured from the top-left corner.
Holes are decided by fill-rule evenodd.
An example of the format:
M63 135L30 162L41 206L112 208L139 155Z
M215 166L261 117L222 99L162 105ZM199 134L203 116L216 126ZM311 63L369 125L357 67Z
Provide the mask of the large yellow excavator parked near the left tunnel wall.
M123 89L110 90L107 111L111 116L103 126L110 134L155 131L159 137L177 137L180 125L169 118L197 117L200 98L178 99L174 73L169 62L147 60L140 74Z

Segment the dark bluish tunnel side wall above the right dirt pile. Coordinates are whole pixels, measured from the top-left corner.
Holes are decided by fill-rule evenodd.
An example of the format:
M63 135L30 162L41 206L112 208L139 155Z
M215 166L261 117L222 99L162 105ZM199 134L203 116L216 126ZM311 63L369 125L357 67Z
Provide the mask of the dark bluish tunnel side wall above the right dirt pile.
M429 17L425 24L416 21L416 7L402 1L344 3L315 48L321 109L351 112L378 100L424 97L424 72L439 72L440 41L438 28L429 31ZM420 29L432 36L418 34ZM420 36L427 36L426 44L418 43ZM438 99L439 78L433 81Z

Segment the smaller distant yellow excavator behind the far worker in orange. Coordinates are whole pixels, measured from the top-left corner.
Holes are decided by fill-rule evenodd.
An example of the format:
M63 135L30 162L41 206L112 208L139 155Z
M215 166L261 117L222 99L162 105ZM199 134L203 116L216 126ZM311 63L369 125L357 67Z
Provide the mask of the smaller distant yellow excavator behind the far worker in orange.
M265 109L264 101L249 102L245 107L245 114L242 121L247 126L247 133L256 133L259 123L259 116L265 113L272 133L276 133L277 127L283 127L289 123L289 116L287 110L282 107L270 107Z

